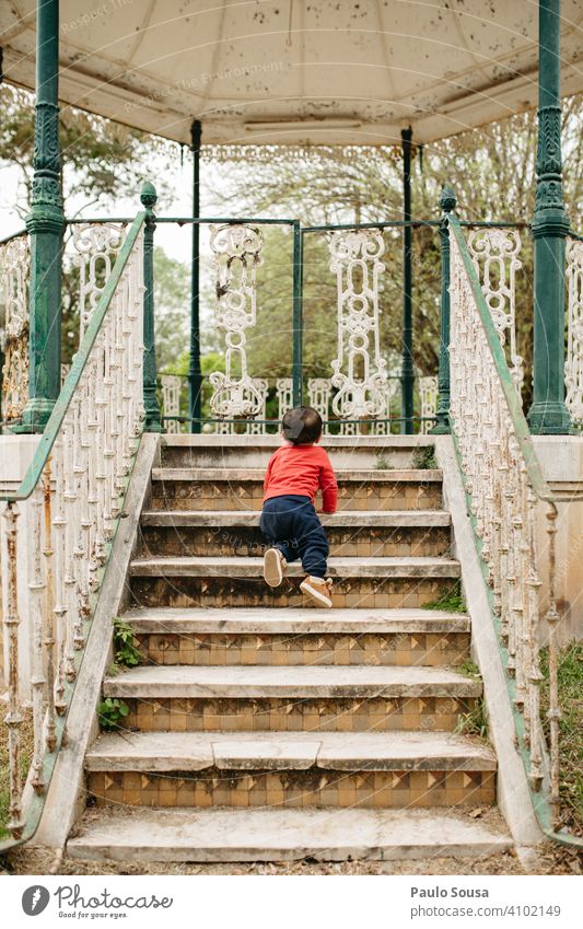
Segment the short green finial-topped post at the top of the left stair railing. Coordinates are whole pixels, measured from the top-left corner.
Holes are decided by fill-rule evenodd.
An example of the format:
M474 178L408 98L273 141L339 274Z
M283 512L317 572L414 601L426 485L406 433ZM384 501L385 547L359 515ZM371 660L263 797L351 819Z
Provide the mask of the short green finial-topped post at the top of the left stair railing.
M162 432L160 406L156 398L156 359L154 333L154 205L155 187L147 181L140 200L145 208L143 230L143 409L144 432Z

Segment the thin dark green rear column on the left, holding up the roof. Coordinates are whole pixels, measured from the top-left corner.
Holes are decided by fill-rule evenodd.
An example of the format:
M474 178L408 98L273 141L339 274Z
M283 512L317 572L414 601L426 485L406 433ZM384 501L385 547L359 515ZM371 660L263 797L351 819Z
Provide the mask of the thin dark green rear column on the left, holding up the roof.
M198 119L191 126L193 218L200 217L200 137ZM190 362L188 368L188 408L190 431L200 432L202 373L200 371L200 225L193 223L193 259L190 283Z

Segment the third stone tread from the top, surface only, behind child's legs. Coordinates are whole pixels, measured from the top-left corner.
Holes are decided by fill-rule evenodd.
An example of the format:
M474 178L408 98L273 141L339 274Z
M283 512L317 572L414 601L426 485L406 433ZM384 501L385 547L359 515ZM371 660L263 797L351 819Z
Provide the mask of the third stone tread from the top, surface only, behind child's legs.
M145 510L142 525L176 526L258 526L260 510ZM445 510L338 510L322 513L325 526L450 526Z

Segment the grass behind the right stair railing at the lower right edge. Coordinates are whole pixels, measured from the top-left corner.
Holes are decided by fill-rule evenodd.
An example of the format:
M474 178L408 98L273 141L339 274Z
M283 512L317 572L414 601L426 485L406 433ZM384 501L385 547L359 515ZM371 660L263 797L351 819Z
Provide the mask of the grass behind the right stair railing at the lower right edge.
M540 652L540 713L543 728L550 744L548 649ZM572 641L559 651L560 720L560 797L561 827L583 837L583 642Z

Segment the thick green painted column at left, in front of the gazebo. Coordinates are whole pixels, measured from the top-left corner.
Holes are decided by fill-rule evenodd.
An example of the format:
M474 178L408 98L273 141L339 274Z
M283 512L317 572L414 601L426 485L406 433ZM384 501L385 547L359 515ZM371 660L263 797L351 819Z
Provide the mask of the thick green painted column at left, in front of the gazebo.
M31 212L30 384L19 432L42 432L60 392L65 217L59 146L59 2L36 8L36 105Z

